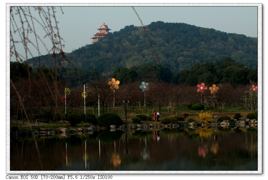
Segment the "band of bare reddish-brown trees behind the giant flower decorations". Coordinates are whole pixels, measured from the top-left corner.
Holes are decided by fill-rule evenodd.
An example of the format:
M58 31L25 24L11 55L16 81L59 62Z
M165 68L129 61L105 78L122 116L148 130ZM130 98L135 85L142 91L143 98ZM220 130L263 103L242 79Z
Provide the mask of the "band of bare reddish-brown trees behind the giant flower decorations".
M230 63L235 64L235 62L228 60L222 61L222 63L217 65L224 67L224 64ZM156 64L155 66L147 65L147 68L151 66L154 67L152 68L154 70L157 69L156 67L160 67L159 64ZM143 71L146 73L144 69L146 69L146 67L143 67ZM130 72L125 70L130 70ZM88 77L87 82L85 82L88 87L86 89L88 94L86 97L87 106L95 106L99 95L101 95L100 103L103 112L107 111L107 109L113 105L114 98L116 106L122 105L123 100L129 100L129 106L137 107L139 105L143 106L145 96L146 107L157 108L160 111L162 106L186 106L189 103L201 103L201 93L197 92L197 84L191 85L186 82L167 82L165 80L166 77L157 77L157 73L154 72L154 74L147 74L147 77L144 77L143 80L149 83L149 90L142 92L139 88L141 85L141 77L136 76L134 69L125 70L123 69L123 72L127 72L127 74L121 74L121 69L118 69L118 71L110 75L99 73L94 69L94 72L98 72L96 73L98 76L95 74L94 78ZM90 71L90 73L93 71ZM121 74L122 79L119 74ZM113 75L116 76L114 77ZM127 80L131 75L135 77L136 80L124 82L123 77ZM120 81L119 89L112 90L110 88L108 82L111 81L111 78ZM186 77L186 79L187 78L188 77ZM22 63L11 62L11 80L14 84L10 89L11 116L23 114L21 111L21 103L23 103L26 111L24 113L31 115L48 113L54 115L55 120L57 114L64 112L65 103L61 98L65 95L64 90L67 87L71 90L71 93L66 97L68 110L76 111L81 109L84 105L84 98L81 96L81 93L84 91L83 84L68 86L68 83L62 80L59 73L52 69L41 67L33 71L31 67ZM198 83L200 84L201 82ZM218 108L222 107L223 104L228 104L244 107L245 104L250 103L245 102L244 97L245 91L248 91L252 85L250 83L236 84L235 86L230 82L217 84L212 81L204 83L208 87L208 90L202 94L202 103L205 106L213 105ZM209 90L209 87L213 84L219 87L218 92L215 94L211 94ZM257 84L254 85L257 86ZM20 101L17 94L24 100ZM256 104L257 99L254 100Z

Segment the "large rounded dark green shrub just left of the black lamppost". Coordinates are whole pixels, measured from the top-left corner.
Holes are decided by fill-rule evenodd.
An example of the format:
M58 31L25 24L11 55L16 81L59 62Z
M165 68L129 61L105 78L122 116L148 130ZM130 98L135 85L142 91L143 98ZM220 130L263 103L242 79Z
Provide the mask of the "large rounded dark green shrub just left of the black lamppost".
M121 126L123 124L122 119L114 113L104 113L97 119L99 126L109 127L110 125Z

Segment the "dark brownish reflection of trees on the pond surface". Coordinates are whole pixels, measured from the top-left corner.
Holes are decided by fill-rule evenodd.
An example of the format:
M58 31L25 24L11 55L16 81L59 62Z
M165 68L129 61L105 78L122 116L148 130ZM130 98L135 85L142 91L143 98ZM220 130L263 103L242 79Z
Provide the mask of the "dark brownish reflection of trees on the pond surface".
M107 142L99 141L100 136L98 136L95 139L91 138L90 141L86 140L85 143L84 138L71 135L77 137L37 138L37 145L41 149L44 170L66 170L66 168L81 170L81 167L79 165L76 167L76 165L85 162L85 158L87 170L127 170L129 167L134 168L133 170L161 170L157 169L160 167L157 165L181 161L192 162L194 167L199 168L198 170L209 170L216 164L220 165L222 170L232 170L249 161L241 162L240 159L257 159L257 135L254 133L236 134L233 131L215 131L214 136L206 135L202 140L196 131L188 131L189 136L184 135L185 130L173 133L163 131L160 141L154 141L154 134L150 131L143 136L132 136L132 132L124 134L121 132L120 136L116 135L120 138ZM108 133L105 134L105 137L107 136L109 136ZM190 136L199 138L190 139ZM71 140L75 142L70 143ZM11 170L40 170L40 167L36 165L37 155L34 151L33 140L24 141L24 145L22 141L11 143ZM66 167L66 142L67 162L72 162L70 167ZM126 147L128 153L125 153ZM25 154L24 157L21 156L21 149ZM17 161L21 158L25 158L25 164L23 161ZM161 166L161 168L164 167ZM181 170L176 169L179 167L169 168ZM184 168L182 170L192 170L192 167Z

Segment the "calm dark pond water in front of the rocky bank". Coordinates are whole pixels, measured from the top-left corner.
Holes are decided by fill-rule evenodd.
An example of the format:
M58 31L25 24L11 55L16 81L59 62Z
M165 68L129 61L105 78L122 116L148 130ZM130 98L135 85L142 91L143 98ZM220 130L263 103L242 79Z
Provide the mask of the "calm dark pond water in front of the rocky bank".
M22 139L24 138L24 139ZM257 129L177 128L17 137L10 170L257 170Z

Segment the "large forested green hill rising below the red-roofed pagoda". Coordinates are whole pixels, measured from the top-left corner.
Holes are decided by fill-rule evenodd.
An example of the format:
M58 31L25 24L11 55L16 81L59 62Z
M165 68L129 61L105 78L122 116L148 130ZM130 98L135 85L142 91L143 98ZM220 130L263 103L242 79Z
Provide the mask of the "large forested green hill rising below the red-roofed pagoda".
M190 69L196 63L215 63L226 57L252 69L257 67L257 38L186 23L161 21L147 25L146 31L160 64L173 73ZM85 35L89 42L90 37ZM111 73L116 67L130 68L158 63L143 27L126 26L109 34L107 38L66 53L66 56L78 69L96 68ZM48 64L51 63L49 56L45 58ZM36 65L33 59L29 62Z

